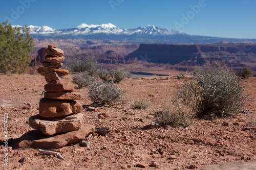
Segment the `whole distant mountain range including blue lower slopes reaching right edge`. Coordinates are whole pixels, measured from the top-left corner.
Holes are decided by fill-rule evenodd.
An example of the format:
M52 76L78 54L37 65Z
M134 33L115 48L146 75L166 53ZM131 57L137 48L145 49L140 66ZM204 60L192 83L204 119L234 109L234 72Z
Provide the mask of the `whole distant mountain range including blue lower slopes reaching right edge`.
M13 26L20 27L22 26ZM135 29L121 29L112 23L102 25L87 25L82 23L76 28L53 29L48 26L28 26L33 38L61 38L61 39L95 39L129 41L129 43L217 43L228 42L256 42L256 39L238 39L189 35L182 31L164 29L158 26L147 25Z

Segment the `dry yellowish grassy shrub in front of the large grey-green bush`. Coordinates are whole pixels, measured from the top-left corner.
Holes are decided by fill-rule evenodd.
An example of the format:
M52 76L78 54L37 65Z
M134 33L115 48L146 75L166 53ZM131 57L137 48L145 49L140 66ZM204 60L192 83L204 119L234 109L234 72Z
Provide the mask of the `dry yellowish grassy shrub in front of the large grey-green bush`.
M169 79L169 84L177 81L171 79ZM164 92L161 112L155 114L156 122L160 125L174 127L187 127L191 125L200 107L200 93L201 87L197 81L191 83L183 82L177 90L172 85L169 85L168 89Z

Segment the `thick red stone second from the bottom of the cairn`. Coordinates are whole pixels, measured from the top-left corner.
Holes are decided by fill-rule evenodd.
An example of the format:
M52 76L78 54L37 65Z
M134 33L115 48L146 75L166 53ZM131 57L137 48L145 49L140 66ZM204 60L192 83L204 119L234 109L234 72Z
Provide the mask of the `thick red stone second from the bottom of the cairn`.
M63 116L60 118L45 118L39 114L29 118L29 126L33 129L39 129L46 135L55 133L70 132L78 130L83 125L82 113Z

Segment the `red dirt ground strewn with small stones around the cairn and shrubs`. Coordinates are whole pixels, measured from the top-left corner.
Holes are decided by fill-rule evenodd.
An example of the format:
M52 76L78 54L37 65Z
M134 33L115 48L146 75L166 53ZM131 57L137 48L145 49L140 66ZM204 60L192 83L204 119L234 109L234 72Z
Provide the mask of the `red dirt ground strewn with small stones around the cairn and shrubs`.
M72 80L72 75L66 76ZM212 120L195 119L184 128L155 125L148 115L158 109L158 101L167 80L127 79L119 86L126 90L129 99L123 106L98 107L98 112L86 110L92 104L87 88L76 89L82 93L80 101L86 124L109 127L106 136L94 133L90 148L79 144L68 145L53 151L60 152L66 160L41 154L36 149L8 148L8 166L4 165L4 146L1 146L1 169L255 169L256 164L256 79L246 80L251 101L246 113L233 118ZM39 100L46 81L38 75L0 75L1 138L4 137L4 114L8 113L9 138L17 138L32 130L28 118L38 114ZM150 107L134 110L131 103L144 99ZM105 118L98 114L105 113ZM223 122L228 126L222 126ZM254 122L254 125L252 124ZM25 162L19 162L27 157ZM157 167L150 167L156 162Z

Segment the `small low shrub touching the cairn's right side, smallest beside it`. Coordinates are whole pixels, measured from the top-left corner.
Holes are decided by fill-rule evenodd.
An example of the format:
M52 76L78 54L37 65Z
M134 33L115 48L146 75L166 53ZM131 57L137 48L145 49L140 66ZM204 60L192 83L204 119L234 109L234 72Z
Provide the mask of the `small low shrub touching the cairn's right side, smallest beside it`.
M73 77L73 83L77 84L78 88L87 87L95 80L96 78L88 75L87 72L77 74Z

